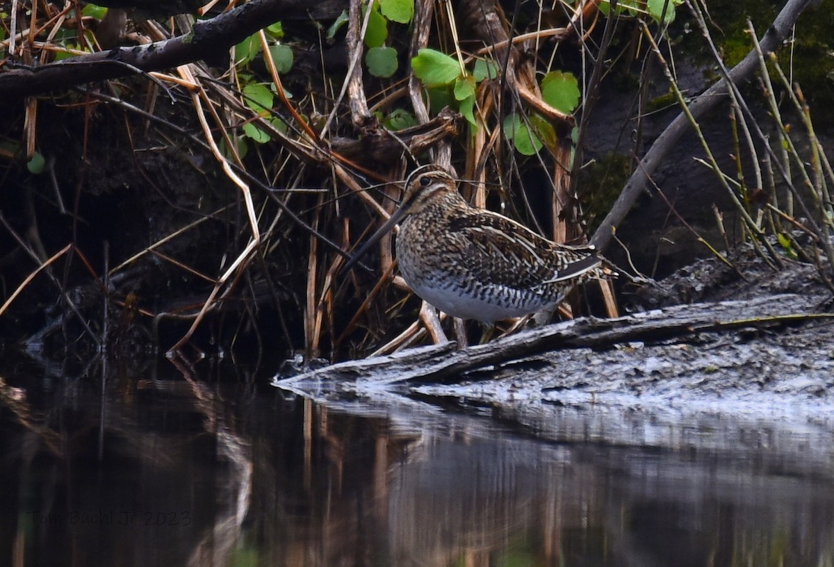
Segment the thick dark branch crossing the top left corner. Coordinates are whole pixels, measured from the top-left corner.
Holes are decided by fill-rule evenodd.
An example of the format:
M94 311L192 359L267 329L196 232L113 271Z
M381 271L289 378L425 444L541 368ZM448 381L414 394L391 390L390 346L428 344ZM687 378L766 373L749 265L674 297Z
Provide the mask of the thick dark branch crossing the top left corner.
M302 0L252 0L216 18L194 24L193 33L163 42L90 53L0 73L0 98L23 98L80 83L124 77L223 57L229 48L282 18L304 15Z

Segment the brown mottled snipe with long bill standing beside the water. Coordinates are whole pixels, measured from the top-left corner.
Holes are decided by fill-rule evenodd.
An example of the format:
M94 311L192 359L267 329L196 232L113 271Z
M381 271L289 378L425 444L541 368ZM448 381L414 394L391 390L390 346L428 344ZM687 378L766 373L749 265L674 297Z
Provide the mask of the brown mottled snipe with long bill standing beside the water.
M396 254L406 284L445 314L483 324L555 309L570 289L611 274L593 246L569 246L460 195L434 164L414 170L389 220L345 264L351 268L399 223Z

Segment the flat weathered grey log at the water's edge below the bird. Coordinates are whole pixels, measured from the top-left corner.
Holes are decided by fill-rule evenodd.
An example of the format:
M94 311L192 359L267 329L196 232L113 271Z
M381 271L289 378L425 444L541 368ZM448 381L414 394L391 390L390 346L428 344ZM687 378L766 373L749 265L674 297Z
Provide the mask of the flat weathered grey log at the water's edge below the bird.
M692 339L703 333L761 329L812 319L834 322L822 313L817 296L781 294L750 301L676 305L616 319L581 318L530 329L469 349L452 343L410 349L388 356L333 364L291 378L279 388L304 393L320 390L384 388L395 384L459 381L461 375L555 349L606 349L617 344ZM464 378L465 379L465 378Z

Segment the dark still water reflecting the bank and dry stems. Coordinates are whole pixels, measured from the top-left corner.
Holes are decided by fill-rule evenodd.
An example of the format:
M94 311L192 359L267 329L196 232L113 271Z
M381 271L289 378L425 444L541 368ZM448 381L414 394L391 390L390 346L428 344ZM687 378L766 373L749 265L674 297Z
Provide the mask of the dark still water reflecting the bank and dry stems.
M0 565L834 564L834 462L809 445L834 435L542 439L268 383L164 362L0 372Z

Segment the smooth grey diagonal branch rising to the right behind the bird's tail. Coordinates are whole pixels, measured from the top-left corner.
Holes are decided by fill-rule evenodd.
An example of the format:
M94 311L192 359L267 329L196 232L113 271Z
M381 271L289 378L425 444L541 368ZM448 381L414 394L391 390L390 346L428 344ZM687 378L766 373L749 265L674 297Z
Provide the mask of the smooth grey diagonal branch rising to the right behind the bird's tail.
M788 0L785 8L782 8L779 15L776 16L773 25L768 28L767 33L761 38L759 46L762 52L771 53L781 45L782 40L791 31L793 24L796 22L796 18L799 18L799 14L810 2L811 0ZM758 56L756 55L756 49L753 49L741 63L732 69L730 78L733 83L739 83L741 80L750 76L756 70L757 66ZM717 103L720 103L726 97L727 93L726 80L722 79L718 83L715 83L706 89L706 92L701 94L695 102L691 103L689 110L692 116L701 118L714 108ZM649 151L646 152L646 156L641 160L640 167L635 169L631 178L625 183L620 197L617 198L608 216L603 219L600 228L597 228L594 237L590 239L590 243L595 244L600 249L605 248L610 243L614 228L622 222L625 215L631 210L631 205L634 204L646 188L646 183L651 173L654 173L655 169L666 158L666 153L675 146L678 138L681 138L683 133L688 129L688 118L686 118L686 114L681 113L661 133L655 143L649 148Z

